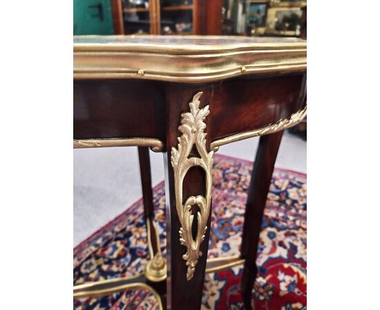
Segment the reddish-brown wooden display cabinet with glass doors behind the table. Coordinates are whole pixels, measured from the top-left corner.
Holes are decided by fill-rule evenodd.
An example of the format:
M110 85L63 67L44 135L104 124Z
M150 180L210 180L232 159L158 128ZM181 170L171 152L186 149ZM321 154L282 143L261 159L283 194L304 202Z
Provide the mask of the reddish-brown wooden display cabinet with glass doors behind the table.
M222 0L112 1L115 34L220 34Z

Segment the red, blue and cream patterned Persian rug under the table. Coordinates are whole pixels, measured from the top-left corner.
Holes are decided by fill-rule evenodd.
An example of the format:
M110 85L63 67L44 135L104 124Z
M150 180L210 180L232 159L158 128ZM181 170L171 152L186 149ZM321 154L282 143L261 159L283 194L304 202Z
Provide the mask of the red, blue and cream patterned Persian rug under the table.
M208 257L240 253L245 202L252 163L216 154L213 163L213 204ZM155 186L155 217L165 250L164 183ZM74 249L74 285L144 271L148 258L142 200ZM306 307L306 175L275 169L258 247L255 309ZM243 267L208 273L202 309L243 309L240 280ZM153 293L131 289L102 298L74 301L74 309L158 309ZM186 306L184 305L184 308Z

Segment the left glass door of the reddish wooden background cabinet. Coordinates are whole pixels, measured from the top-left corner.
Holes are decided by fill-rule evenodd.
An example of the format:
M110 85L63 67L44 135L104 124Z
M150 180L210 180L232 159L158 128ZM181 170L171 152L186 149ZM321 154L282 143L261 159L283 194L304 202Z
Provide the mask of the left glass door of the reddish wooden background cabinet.
M151 0L122 0L124 34L151 34Z

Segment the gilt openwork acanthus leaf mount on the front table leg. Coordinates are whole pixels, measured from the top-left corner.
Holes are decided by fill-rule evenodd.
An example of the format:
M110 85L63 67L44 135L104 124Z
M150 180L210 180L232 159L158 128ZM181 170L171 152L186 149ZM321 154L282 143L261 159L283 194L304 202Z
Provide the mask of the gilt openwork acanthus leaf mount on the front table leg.
M209 211L211 206L211 169L213 163L213 151L207 152L206 148L206 124L204 122L207 115L209 115L209 105L202 109L199 108L200 101L198 100L202 92L198 92L193 96L193 101L189 103L190 112L181 115L181 124L178 130L182 135L178 137L178 147L171 148L171 165L174 170L175 182L175 205L180 220L180 243L187 247L187 252L182 256L186 260L187 265L187 280L193 278L198 259L202 256L200 251L200 244L205 239L205 232L207 231L207 218L209 218ZM200 157L189 157L193 145ZM184 176L189 169L194 166L202 167L205 170L206 176L206 194L205 197L189 196L182 205L182 183ZM191 207L198 205L199 210L196 214L198 220L198 229L196 232L196 239L193 239L191 229L193 227L194 215L191 212Z

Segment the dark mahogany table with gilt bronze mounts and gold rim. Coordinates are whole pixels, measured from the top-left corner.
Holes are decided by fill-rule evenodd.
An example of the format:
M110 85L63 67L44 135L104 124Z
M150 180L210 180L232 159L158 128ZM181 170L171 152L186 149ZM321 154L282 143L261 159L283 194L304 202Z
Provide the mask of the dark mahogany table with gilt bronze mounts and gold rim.
M75 298L150 289L167 309L200 309L205 272L244 264L247 309L261 219L283 130L306 114L306 41L242 37L75 37L74 147L139 147L150 260L131 279ZM260 136L240 256L207 260L211 168L220 145ZM153 214L149 147L164 154L167 258ZM160 296L160 297L159 297Z

